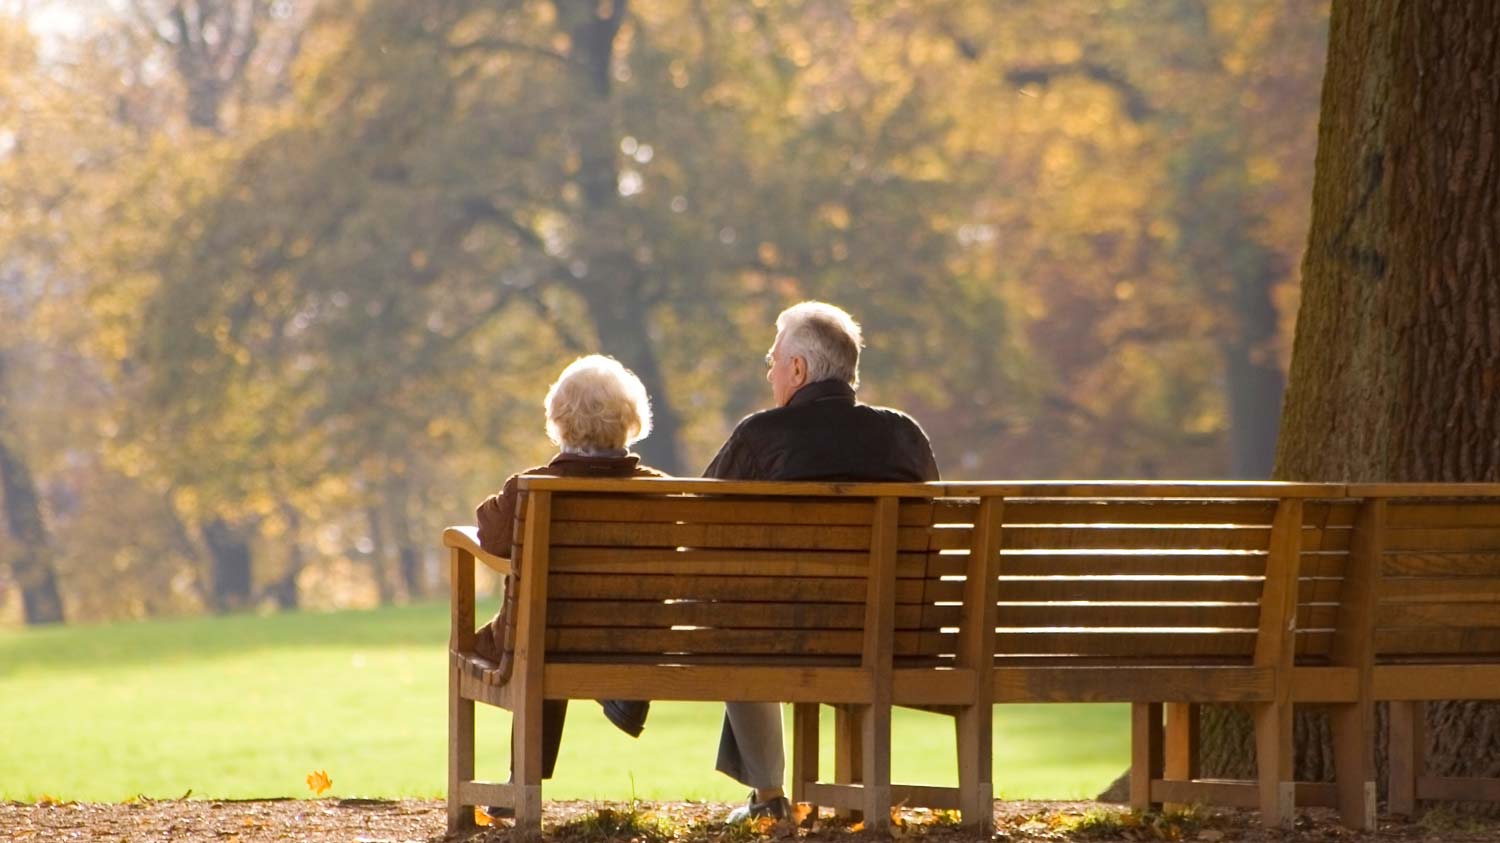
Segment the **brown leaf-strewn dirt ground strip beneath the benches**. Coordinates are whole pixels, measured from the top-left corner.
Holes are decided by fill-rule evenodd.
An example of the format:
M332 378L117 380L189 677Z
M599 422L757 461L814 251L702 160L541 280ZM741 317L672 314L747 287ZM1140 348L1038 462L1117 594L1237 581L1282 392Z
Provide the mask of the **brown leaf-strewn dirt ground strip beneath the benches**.
M872 836L826 812L810 828L764 820L758 826L724 826L730 806L717 802L648 802L632 808L608 802L548 802L543 828L556 843L864 843ZM1422 820L1382 818L1371 834L1341 828L1322 810L1302 812L1288 831L1262 828L1250 812L1203 810L1144 818L1096 802L998 802L996 843L1074 840L1202 840L1204 843L1500 843L1500 820L1473 820L1432 813ZM945 812L904 810L891 837L932 843L970 840ZM0 840L110 843L444 843L444 808L438 801L384 800L140 800L122 804L0 802ZM494 820L465 843L508 842L508 822Z

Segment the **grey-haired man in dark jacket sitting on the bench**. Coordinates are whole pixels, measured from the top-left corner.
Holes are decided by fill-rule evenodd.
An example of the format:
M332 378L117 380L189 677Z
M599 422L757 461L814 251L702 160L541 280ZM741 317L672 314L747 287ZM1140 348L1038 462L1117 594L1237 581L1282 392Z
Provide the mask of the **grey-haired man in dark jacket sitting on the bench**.
M910 416L855 400L860 324L822 302L776 320L765 356L776 406L744 417L704 472L722 480L938 480L927 434ZM790 816L782 705L724 704L718 771L753 788L729 822Z

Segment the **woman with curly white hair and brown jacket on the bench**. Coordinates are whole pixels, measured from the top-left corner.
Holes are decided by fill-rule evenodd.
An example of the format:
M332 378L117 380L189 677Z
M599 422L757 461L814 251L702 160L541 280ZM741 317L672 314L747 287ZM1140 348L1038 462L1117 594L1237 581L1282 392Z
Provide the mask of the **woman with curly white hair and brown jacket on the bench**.
M520 474L554 477L663 477L654 468L640 465L640 458L626 450L651 432L651 402L636 375L614 357L590 354L568 363L548 390L548 438L558 446L558 454L546 465ZM490 554L510 556L512 532L516 520L516 480L484 498L476 510L480 546ZM525 576L525 572L519 572ZM510 672L514 624L507 622L516 608L516 578L506 582L506 600L488 624L478 630L477 651L496 662L501 672ZM638 700L600 700L604 716L632 736L640 735L650 704ZM542 776L552 777L558 746L562 742L566 699L549 699L542 708Z

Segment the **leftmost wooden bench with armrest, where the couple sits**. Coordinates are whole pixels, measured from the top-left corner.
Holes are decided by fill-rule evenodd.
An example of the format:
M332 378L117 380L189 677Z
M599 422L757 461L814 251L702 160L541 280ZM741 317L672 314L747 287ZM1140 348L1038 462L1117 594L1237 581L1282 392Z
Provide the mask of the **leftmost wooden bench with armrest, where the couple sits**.
M518 834L537 834L542 700L558 698L840 705L856 712L861 760L824 798L886 825L892 652L921 660L936 644L921 624L939 488L528 477L520 494L508 681L474 656L474 561L512 566L466 530L444 534L450 830L484 804L514 807ZM513 783L474 782L476 700L513 712ZM794 766L795 790L818 784L816 768Z

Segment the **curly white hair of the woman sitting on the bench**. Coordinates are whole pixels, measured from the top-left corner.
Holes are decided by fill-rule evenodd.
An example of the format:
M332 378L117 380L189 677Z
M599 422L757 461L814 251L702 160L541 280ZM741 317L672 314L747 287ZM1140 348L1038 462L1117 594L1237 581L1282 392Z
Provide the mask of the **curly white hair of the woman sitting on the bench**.
M616 450L651 434L651 399L634 372L603 354L579 357L548 388L548 438L562 450Z

